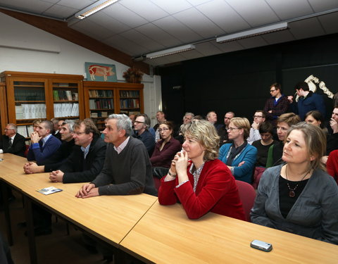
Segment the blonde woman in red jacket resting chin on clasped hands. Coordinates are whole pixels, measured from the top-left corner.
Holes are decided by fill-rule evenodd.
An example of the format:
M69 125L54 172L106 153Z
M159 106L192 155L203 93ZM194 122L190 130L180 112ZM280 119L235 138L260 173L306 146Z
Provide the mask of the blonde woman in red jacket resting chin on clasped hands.
M196 219L213 212L244 220L236 182L218 157L219 137L206 120L193 120L181 128L183 149L161 179L158 201L171 205L180 201L188 218Z

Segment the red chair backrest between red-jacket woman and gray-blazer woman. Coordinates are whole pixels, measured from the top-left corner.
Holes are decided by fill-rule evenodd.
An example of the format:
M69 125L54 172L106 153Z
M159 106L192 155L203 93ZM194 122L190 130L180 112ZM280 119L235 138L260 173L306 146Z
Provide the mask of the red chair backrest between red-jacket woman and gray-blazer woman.
M251 208L253 208L253 203L256 197L256 191L255 189L253 189L251 184L247 182L236 180L236 184L239 192L239 197L242 200L246 221L251 222L250 210Z

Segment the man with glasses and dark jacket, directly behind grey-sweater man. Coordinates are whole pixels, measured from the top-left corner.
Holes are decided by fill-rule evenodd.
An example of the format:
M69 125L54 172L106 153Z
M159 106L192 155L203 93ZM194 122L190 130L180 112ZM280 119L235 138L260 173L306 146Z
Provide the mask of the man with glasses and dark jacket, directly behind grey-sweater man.
M143 142L144 146L146 146L146 151L148 151L149 157L151 157L155 148L155 140L151 135L151 132L148 130L149 127L150 119L148 115L145 113L137 115L134 122L134 130L136 133L133 134L132 137L136 137Z

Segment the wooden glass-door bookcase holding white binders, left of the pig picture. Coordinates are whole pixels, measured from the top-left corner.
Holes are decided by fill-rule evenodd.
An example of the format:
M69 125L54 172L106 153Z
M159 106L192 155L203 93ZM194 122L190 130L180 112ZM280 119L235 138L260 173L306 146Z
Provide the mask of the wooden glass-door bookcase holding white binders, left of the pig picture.
M5 71L0 77L6 83L2 101L7 104L8 122L18 125L18 133L25 137L35 119L84 118L82 75Z

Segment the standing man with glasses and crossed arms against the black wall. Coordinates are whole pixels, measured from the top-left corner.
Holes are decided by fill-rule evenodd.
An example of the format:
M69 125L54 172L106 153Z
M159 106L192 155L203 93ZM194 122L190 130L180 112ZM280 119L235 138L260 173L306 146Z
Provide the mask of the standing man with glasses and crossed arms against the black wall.
M277 125L277 118L283 113L287 113L289 100L282 94L282 88L278 82L270 86L271 97L265 102L264 113L268 122L274 127Z

